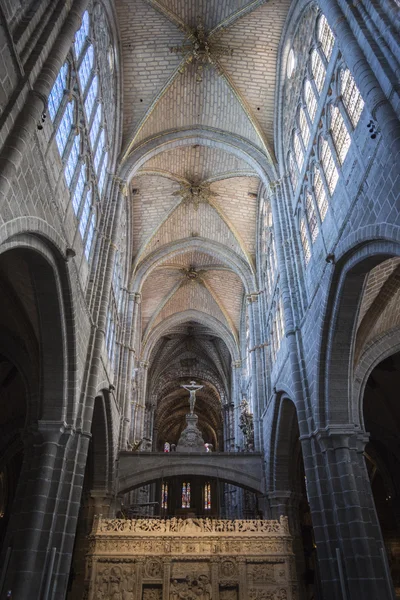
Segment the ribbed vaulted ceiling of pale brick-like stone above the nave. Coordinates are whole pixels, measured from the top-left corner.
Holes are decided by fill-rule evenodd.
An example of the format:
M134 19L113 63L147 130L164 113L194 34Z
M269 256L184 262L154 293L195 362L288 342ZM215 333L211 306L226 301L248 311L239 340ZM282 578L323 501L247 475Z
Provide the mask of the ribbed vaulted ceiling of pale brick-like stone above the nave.
M160 373L172 368L166 351L171 331L179 338L175 359L197 357L205 369L209 352L208 367L221 381L224 369L205 350L201 331L224 340L232 360L240 357L244 295L256 288L261 183L249 157L255 153L274 168L275 74L289 5L116 2L121 164L131 211L132 280L142 294L140 354L156 360L157 368L161 361ZM200 335L190 356L188 326Z

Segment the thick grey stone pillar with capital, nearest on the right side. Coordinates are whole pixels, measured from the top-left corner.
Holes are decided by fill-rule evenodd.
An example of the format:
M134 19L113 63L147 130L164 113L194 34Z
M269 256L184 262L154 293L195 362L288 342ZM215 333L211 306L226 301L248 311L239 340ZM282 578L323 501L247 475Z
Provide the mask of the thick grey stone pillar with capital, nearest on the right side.
M393 600L363 457L366 436L352 426L302 436L307 494L324 600Z

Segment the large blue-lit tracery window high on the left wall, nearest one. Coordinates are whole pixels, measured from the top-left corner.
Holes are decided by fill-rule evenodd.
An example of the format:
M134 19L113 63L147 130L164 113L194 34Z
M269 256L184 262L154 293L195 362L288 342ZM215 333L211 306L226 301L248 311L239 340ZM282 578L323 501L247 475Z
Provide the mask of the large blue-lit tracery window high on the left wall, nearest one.
M49 114L55 127L54 137L64 163L65 181L70 189L87 259L91 254L96 227L93 203L102 195L108 167L107 131L100 102L102 72L97 73L96 39L89 38L90 29L91 19L86 11L75 34L73 52L61 67L48 98ZM63 99L68 87L75 91L65 102ZM83 116L86 116L87 130L82 125ZM93 160L88 156L91 149L95 150Z

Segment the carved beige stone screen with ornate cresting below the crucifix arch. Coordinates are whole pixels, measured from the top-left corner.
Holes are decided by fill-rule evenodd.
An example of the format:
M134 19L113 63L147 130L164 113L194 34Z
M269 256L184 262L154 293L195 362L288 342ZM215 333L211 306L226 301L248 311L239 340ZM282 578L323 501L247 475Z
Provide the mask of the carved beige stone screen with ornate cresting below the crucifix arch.
M297 600L287 519L101 519L89 600Z

